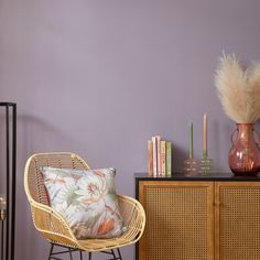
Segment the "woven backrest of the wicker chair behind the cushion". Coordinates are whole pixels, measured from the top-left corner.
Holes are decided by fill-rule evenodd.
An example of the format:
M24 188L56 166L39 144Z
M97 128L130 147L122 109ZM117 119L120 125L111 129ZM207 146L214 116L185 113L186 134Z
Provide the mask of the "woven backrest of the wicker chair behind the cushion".
M41 166L59 169L89 169L88 164L77 154L69 152L52 152L33 154L26 162L24 171L24 188L29 201L48 205L43 183Z

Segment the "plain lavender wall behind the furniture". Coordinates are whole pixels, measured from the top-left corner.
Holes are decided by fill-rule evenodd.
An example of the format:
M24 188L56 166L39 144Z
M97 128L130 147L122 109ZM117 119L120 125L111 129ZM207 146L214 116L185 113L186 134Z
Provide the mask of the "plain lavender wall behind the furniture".
M44 260L23 167L34 152L74 151L93 167L115 166L118 192L134 195L147 140L174 144L174 170L194 122L202 154L228 171L230 131L214 87L221 51L260 59L259 0L0 0L0 96L18 102L17 259ZM123 249L133 259L133 247ZM96 254L94 259L102 259Z

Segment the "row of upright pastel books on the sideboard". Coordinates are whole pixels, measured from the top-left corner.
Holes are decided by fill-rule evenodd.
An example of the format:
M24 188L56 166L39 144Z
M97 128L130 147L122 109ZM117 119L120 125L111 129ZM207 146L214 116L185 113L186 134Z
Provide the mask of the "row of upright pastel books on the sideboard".
M164 141L160 136L148 141L149 176L172 175L172 143Z

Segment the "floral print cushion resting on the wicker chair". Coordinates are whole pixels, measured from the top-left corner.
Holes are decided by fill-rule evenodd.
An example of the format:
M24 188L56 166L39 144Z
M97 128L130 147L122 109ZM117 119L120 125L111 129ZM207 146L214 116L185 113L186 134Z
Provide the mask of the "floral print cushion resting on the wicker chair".
M124 231L115 189L115 169L41 167L51 207L77 239L112 238Z

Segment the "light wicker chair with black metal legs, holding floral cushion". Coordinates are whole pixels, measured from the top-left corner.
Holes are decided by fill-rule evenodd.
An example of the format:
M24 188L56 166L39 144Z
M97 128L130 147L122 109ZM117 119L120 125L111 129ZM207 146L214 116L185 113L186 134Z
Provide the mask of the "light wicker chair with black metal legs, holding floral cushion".
M88 164L75 153L37 153L32 155L25 165L24 188L31 205L32 218L35 228L51 242L48 259L61 259L57 254L87 251L109 253L113 259L122 259L119 248L137 242L144 229L145 215L142 205L134 198L119 195L119 207L128 230L121 237L112 239L77 240L64 218L48 206L43 177L39 172L40 166L63 169L89 169ZM54 247L62 247L55 251ZM65 249L64 249L65 248ZM56 250L56 249L55 249Z

